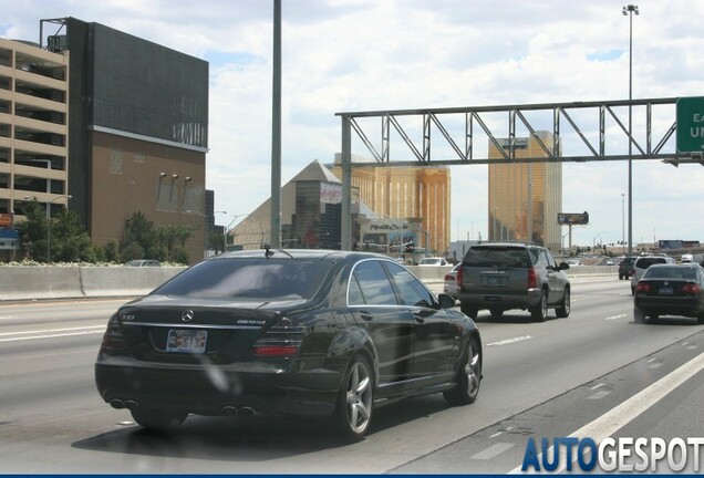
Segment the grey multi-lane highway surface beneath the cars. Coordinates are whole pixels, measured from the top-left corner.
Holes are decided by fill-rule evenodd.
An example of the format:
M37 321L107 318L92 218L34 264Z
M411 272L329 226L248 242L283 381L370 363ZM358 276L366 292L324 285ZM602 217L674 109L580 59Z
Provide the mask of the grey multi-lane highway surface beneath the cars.
M529 438L702 435L704 325L635 324L629 282L615 276L572 278L568 319L480 314L478 401L453 408L436 395L379 408L353 445L293 419L191 416L169 436L142 430L93 382L122 302L0 305L0 472L506 474L520 470Z

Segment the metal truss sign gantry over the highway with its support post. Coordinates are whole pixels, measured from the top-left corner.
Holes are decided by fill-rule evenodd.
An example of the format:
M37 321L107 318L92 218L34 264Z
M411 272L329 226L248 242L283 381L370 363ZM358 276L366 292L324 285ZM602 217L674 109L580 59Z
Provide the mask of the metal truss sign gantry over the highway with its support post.
M337 113L342 119L342 248L351 247L353 167L629 158L659 159L674 166L704 165L702 152L676 150L676 101L670 97ZM631 128L629 115L633 119ZM356 134L354 146L365 148L372 162L353 160L352 132ZM521 138L534 138L540 145L540 154L517 155ZM489 144L503 157L489 159Z

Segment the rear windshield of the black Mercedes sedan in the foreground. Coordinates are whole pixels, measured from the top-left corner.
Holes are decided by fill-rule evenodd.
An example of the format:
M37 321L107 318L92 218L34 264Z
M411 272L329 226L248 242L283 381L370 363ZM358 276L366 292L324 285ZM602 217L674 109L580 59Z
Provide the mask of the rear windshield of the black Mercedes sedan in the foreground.
M153 293L204 299L310 299L331 264L298 259L232 258L201 262Z

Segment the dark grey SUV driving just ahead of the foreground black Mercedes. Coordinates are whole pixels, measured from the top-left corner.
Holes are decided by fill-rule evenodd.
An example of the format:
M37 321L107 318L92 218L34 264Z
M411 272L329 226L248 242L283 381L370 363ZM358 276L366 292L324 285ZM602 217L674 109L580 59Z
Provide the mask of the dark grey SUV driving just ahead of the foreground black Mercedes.
M457 271L457 299L472 319L488 309L493 319L504 311L530 311L534 321L543 322L548 309L558 318L570 314L570 282L565 271L543 247L486 242L472 246Z

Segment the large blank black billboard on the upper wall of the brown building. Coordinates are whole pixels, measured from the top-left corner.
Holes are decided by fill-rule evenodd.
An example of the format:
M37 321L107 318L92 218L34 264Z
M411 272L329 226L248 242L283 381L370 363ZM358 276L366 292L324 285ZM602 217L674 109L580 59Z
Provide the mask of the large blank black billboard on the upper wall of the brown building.
M92 126L208 146L208 62L91 23Z

